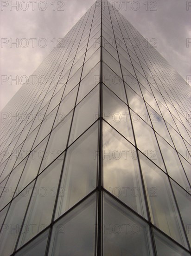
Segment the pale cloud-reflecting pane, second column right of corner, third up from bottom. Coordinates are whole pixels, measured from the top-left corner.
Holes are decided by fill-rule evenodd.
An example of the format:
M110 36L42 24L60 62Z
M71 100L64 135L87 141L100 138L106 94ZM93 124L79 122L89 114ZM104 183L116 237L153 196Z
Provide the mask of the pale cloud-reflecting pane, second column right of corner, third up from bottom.
M134 115L134 112L131 112ZM153 129L139 116L137 120L133 119L133 126L137 147L160 168L165 169Z

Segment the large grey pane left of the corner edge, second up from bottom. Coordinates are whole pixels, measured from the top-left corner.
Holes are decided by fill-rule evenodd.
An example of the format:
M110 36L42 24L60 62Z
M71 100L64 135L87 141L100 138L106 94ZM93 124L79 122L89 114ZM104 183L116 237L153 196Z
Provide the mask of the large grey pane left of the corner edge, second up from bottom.
M98 122L80 137L66 153L56 217L70 209L96 188Z

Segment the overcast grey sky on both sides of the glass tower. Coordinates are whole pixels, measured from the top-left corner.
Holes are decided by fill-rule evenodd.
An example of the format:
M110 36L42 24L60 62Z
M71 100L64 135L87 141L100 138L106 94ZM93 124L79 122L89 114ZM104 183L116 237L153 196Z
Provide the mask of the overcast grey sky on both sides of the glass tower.
M14 7L16 2L18 6ZM51 52L54 42L57 44L57 40L67 34L94 2L1 0L0 109L4 108L21 86L17 81L11 82L12 78L20 79L23 75L29 77ZM191 74L191 1L111 2L148 41L155 40L156 50L186 80ZM30 40L32 38L35 39L33 44ZM15 41L18 45L13 44ZM47 46L44 47L45 42Z

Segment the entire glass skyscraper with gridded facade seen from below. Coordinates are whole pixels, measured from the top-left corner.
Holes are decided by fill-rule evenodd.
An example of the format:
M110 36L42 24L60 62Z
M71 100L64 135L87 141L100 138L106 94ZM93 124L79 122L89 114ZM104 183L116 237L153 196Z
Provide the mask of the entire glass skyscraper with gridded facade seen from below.
M2 256L187 256L190 87L98 0L1 113Z

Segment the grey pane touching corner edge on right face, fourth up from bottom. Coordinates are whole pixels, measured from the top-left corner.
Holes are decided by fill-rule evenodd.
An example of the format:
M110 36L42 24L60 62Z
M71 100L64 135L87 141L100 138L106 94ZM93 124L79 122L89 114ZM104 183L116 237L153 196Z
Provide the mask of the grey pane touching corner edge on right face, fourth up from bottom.
M104 62L102 62L102 81L112 90L122 101L127 103L124 84L122 79L114 73Z

